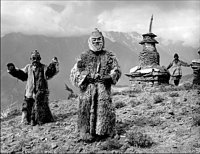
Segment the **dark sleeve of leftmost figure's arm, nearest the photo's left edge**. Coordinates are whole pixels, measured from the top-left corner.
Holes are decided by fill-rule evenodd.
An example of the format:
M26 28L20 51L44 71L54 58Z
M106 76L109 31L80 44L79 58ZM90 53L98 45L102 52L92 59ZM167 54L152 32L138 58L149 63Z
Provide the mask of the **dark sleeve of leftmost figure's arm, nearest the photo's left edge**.
M21 81L27 81L28 79L28 65L22 69L16 68L13 71L7 70L7 72Z

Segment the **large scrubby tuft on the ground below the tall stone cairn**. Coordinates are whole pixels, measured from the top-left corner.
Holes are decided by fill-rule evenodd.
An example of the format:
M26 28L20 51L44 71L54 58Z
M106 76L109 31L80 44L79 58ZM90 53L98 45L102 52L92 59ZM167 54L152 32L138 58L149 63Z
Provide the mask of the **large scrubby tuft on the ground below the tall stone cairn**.
M147 134L143 134L137 127L126 134L127 142L131 146L149 148L153 145L153 140Z

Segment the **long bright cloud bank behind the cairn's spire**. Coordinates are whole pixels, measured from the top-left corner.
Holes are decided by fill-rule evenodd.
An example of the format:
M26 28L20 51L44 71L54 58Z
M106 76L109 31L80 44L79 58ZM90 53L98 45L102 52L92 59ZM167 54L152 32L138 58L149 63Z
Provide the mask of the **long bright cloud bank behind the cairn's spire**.
M154 14L153 33L162 37L164 43L183 41L184 45L199 47L200 10L186 8L184 5L182 9L174 7L170 11L163 11L163 7L144 5L134 9L132 6L126 6L106 10L98 16L98 23L104 30L137 31L144 34L149 30L151 14Z

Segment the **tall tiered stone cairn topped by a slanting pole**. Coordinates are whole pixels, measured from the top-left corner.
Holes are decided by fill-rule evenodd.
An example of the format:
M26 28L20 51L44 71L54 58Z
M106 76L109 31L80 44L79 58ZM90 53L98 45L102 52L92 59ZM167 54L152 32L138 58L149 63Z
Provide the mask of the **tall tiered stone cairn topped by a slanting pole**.
M143 50L139 53L139 66L133 67L130 73L125 74L129 77L132 86L169 84L170 73L164 66L160 66L160 55L156 49L158 42L155 40L156 35L151 32L152 22L153 15L149 33L143 34L143 40L139 42L143 46Z

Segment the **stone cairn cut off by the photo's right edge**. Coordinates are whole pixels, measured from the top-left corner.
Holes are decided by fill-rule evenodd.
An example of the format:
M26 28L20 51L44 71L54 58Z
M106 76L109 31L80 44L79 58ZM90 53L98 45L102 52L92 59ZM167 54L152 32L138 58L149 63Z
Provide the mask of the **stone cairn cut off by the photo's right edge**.
M193 85L200 85L200 48L198 49L199 59L192 60Z

